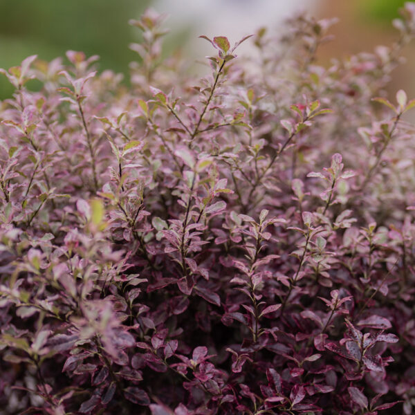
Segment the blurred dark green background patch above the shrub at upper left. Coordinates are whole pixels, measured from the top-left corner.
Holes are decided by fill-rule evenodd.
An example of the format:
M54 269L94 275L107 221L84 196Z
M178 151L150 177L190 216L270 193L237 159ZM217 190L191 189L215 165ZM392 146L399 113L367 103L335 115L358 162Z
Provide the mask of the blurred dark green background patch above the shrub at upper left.
M100 55L100 69L127 72L137 55L129 50L138 19L150 0L0 0L0 68L19 65L29 55L51 60L66 50ZM0 76L0 99L12 86Z

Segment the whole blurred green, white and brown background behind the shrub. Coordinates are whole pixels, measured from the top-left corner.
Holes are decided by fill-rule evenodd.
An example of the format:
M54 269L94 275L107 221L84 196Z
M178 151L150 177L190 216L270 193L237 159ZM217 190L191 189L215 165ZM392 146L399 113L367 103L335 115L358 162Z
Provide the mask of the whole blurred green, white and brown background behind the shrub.
M128 73L128 64L137 59L129 50L139 41L139 30L127 24L151 6L169 15L165 26L165 53L181 46L191 59L205 55L205 42L197 39L226 35L236 41L260 26L275 30L295 10L304 9L315 17L339 17L333 27L335 42L320 51L320 57L347 56L373 50L394 39L391 20L404 0L0 0L0 68L20 64L28 55L50 60L66 50L100 55L100 69ZM247 42L248 43L248 42ZM241 52L240 52L241 53ZM243 50L249 53L249 48ZM405 50L408 62L394 74L391 91L404 88L415 95L415 48ZM0 77L0 99L12 88Z

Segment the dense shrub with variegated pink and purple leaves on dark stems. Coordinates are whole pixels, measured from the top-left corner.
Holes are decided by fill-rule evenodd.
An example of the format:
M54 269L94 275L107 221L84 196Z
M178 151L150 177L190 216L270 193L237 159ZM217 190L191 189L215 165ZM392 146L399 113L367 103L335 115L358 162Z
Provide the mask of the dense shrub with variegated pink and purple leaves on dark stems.
M401 15L329 66L296 17L252 59L204 37L192 79L146 12L129 87L74 51L2 71L0 414L412 414Z

